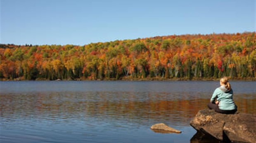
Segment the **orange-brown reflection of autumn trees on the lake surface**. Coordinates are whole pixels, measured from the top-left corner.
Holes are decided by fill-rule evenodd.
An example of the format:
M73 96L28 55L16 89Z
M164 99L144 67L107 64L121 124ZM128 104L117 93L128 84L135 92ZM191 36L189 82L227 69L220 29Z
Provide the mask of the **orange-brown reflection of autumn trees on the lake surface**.
M133 122L174 122L188 125L209 99L170 98L171 95L134 92L55 92L1 95L1 117L102 118ZM240 112L255 113L255 97L235 99Z

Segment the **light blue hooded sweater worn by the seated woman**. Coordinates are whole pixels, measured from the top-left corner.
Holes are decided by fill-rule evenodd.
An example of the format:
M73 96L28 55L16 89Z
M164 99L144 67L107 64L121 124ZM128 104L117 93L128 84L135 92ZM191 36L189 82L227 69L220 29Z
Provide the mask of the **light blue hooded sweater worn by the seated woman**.
M234 110L237 108L233 100L233 90L228 90L225 86L216 88L211 97L211 102L214 102L215 99L219 101L220 110Z

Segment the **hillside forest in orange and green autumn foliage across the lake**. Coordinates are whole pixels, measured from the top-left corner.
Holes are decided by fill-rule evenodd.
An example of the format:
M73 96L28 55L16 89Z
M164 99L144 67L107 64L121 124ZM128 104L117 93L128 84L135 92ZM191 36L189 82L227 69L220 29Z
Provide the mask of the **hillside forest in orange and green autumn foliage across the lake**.
M256 77L255 32L76 45L0 45L1 80Z

